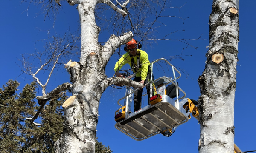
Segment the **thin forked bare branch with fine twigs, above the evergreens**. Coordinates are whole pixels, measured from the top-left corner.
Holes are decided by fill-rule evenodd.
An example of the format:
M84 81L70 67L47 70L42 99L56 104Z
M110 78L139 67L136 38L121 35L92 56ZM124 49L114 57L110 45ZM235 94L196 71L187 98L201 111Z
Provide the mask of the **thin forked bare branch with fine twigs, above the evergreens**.
M73 34L65 34L63 37L55 37L49 36L49 30L45 31L48 34L47 40L38 40L45 43L44 48L45 50L40 52L36 51L34 54L29 54L29 57L24 57L22 65L23 73L28 75L32 75L33 79L40 85L42 88L43 96L46 95L46 86L49 82L50 77L54 74L59 68L63 68L64 62L68 60L70 55L73 55L72 51L78 49L78 45L76 44L79 42L80 37L74 37ZM33 66L29 62L29 58L33 58L33 62L36 60L39 61L39 66ZM55 70L57 69L57 70ZM34 70L34 71L33 71ZM45 79L45 83L43 83L38 77L38 73L40 71L44 71L44 74L47 75ZM49 73L45 73L45 71L49 71Z

